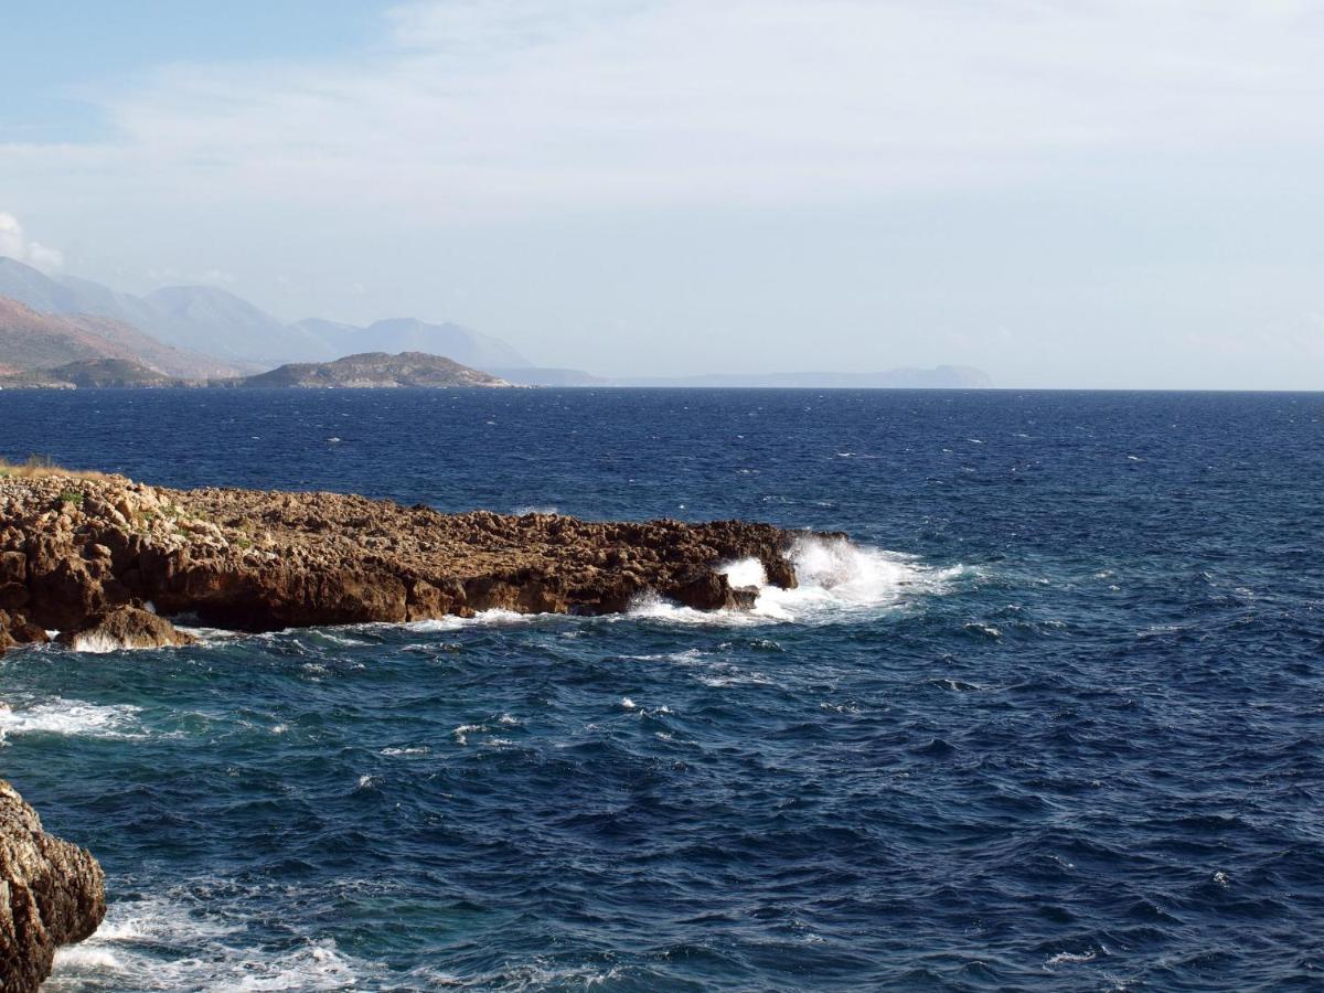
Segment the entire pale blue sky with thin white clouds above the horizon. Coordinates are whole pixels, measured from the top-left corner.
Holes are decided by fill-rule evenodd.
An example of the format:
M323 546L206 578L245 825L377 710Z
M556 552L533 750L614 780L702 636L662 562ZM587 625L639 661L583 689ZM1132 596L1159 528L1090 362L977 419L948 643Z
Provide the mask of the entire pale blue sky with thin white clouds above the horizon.
M605 375L1324 388L1324 0L48 0L0 254Z

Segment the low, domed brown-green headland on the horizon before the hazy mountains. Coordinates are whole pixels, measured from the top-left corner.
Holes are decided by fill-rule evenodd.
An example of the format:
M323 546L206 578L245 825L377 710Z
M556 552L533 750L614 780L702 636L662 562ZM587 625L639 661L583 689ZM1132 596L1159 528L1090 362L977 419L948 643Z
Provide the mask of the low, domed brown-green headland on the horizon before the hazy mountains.
M425 352L364 352L327 363L291 363L236 380L237 387L381 389L393 387L508 387L503 379Z

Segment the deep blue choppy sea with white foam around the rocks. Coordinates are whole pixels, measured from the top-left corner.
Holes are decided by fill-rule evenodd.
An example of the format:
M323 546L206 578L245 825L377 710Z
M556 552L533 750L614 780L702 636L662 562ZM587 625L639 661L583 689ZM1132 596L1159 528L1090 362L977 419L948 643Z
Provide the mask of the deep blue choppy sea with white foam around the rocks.
M749 614L4 657L107 873L50 989L1324 988L1324 395L0 393L30 451L855 543Z

